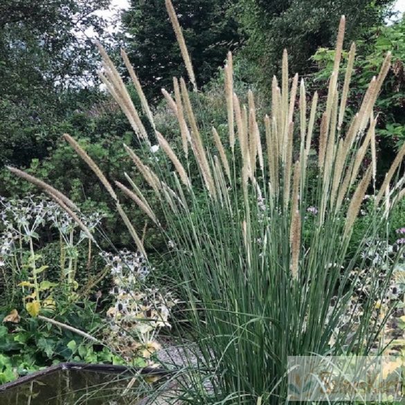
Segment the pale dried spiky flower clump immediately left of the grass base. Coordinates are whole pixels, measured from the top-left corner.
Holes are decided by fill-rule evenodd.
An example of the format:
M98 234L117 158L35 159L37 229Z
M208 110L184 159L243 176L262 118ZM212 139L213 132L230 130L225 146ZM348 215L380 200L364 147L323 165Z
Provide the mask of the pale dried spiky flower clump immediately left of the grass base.
M157 332L170 327L168 319L175 300L170 293L143 287L150 269L141 253L124 249L100 255L114 280L110 291L114 305L107 311L111 323L108 344L129 359L135 354L149 359L160 348L154 341Z

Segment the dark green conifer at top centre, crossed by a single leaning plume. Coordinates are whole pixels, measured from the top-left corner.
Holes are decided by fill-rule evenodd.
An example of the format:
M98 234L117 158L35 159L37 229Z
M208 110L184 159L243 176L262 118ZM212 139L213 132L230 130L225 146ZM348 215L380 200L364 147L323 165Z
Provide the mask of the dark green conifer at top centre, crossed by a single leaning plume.
M173 1L199 85L213 77L228 50L240 41L231 14L233 0ZM149 99L186 75L163 0L132 0L123 15L125 48Z

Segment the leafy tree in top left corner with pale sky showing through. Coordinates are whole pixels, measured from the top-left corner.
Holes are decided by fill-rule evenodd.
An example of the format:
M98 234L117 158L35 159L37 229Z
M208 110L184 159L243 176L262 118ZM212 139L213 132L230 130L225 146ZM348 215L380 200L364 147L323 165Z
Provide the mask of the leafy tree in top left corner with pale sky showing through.
M0 4L0 164L42 159L66 130L69 113L91 105L84 91L96 76L96 49L86 30L105 37L95 10L109 0ZM82 90L79 93L67 89Z

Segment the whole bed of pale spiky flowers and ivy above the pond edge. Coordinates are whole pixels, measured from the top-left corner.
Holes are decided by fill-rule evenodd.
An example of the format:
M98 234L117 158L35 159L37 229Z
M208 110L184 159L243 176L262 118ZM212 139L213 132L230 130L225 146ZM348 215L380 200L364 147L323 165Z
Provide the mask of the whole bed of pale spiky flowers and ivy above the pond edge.
M103 215L80 215L86 234L55 201L28 195L1 197L0 217L1 384L61 361L151 363L174 302L146 287L142 255L93 246Z

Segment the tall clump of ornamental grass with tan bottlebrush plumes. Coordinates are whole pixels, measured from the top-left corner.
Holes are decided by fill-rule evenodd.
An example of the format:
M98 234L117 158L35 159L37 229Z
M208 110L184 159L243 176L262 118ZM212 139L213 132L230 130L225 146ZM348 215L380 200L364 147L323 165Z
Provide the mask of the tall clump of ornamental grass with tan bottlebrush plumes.
M181 28L170 0L166 0L166 5L196 91ZM163 95L179 121L183 152L178 154L165 134L157 132L152 109L147 106L125 53L125 64L136 84L144 113L153 123L154 134L145 134L116 68L100 47L104 66L100 78L123 108L138 138L146 144L139 152L141 157L125 148L154 190L163 212L159 220L165 226L161 229L175 246L174 272L179 294L187 301L189 332L201 357L199 377L190 379L183 401L282 403L287 393L289 355L367 354L379 336L381 326L373 321L371 309L377 300L384 298L387 283L376 283L364 298L367 310L359 322L353 315L344 328L339 325L342 316L350 314L350 297L354 292L350 277L366 267L361 259L362 244L353 257L348 258L346 251L361 201L375 185L373 107L388 73L390 54L377 78L370 82L352 123L343 125L356 51L353 44L341 86L344 32L342 17L324 111L318 106L317 93L309 98L307 107L304 80L299 82L298 75L289 80L285 51L281 85L273 78L271 110L262 123L253 93L247 95L248 105L235 94L232 56L228 55L225 138L215 128L201 135L186 82L174 78L174 99L168 91L163 91ZM316 123L317 115L322 117L320 125ZM319 144L318 162L314 165L309 152L315 134ZM77 143L66 138L116 199L96 164L89 161ZM153 156L148 147L151 138L157 138L172 165L147 159ZM369 150L372 163L367 165L365 156ZM393 203L404 197L403 181L396 183L395 179L404 154L405 146L381 190L373 191L377 198L372 226L364 233L363 242L381 243L379 231L386 228L387 221L379 215L381 206L389 211ZM190 167L196 165L199 173L190 172ZM317 177L309 187L309 174L314 172L314 166ZM121 183L117 186L160 226L152 204L131 179L129 183L133 191ZM118 199L116 204L138 249L144 251ZM309 206L317 210L312 228L307 220ZM375 273L379 269L369 271ZM201 384L203 370L209 370L211 377L208 391Z

